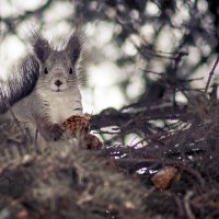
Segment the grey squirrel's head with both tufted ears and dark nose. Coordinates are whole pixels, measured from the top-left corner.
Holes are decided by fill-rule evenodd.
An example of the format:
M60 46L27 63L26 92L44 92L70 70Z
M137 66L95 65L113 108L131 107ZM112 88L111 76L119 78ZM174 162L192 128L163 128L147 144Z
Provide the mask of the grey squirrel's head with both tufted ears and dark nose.
M61 49L53 48L48 41L37 33L33 33L30 39L34 56L39 64L37 83L41 88L61 92L78 85L77 69L83 45L81 28L71 34Z

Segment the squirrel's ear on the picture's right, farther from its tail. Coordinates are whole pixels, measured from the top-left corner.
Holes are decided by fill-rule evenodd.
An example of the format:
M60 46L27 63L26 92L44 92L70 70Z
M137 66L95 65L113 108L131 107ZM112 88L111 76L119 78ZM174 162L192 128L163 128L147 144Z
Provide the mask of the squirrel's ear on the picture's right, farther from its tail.
M79 60L83 46L83 28L78 27L66 44L65 50L69 54L72 65Z

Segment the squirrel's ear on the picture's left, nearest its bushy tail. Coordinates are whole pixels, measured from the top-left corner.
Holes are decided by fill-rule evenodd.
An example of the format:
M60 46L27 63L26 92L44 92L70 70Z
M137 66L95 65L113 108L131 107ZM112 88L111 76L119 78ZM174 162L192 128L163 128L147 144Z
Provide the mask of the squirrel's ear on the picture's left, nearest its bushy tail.
M32 32L28 38L36 58L45 64L51 50L49 43L36 32Z

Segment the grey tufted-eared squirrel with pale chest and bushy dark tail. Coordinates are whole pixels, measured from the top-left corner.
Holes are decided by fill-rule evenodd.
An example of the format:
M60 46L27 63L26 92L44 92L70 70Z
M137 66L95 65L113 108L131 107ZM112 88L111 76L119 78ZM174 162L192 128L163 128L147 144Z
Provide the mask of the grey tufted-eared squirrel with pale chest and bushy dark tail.
M0 81L0 113L14 113L31 136L38 131L46 141L58 140L61 124L82 116L80 76L83 30L78 27L60 48L36 31L28 42L33 54L24 58L8 81Z

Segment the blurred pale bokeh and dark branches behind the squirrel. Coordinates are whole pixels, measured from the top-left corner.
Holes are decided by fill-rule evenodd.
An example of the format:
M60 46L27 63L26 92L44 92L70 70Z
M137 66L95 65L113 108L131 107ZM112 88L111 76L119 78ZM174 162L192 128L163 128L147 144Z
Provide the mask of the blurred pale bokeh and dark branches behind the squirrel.
M83 21L82 96L92 114L185 103L186 91L204 90L219 53L216 0L0 0L0 13L1 77L30 51L30 28L48 39L68 38ZM218 83L217 74L211 82Z

